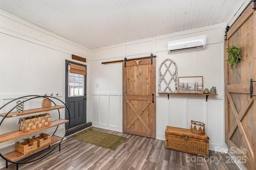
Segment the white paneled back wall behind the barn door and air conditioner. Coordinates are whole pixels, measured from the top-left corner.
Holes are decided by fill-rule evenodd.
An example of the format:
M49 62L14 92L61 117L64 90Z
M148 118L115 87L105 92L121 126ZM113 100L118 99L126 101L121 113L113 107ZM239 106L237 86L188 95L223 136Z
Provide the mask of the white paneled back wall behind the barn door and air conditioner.
M156 138L164 140L166 125L190 128L190 120L206 123L210 149L227 151L224 142L224 24L116 44L93 50L93 126L122 131L122 63L102 65L124 57L156 55L156 89L160 63L170 58L178 66L178 77L203 76L204 88L215 86L218 96L156 95ZM206 49L168 54L167 42L193 36L207 36ZM96 87L99 84L99 87Z

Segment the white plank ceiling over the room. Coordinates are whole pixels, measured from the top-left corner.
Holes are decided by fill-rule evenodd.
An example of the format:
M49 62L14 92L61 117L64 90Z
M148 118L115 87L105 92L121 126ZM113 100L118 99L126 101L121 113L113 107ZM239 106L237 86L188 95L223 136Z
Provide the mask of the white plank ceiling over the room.
M246 0L0 0L0 9L90 49L229 22Z

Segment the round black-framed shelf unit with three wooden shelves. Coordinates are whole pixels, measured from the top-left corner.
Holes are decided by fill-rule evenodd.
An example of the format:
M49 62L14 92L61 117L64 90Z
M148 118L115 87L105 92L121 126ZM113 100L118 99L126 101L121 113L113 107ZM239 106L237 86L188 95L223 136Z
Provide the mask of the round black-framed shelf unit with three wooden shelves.
M29 98L30 97L30 98ZM5 105L3 105L0 110L5 107L6 105L18 100L18 99L22 99L22 98L29 98L29 99L26 99L25 101L23 101L22 103L26 102L26 101L29 101L31 99L36 99L36 98L46 98L45 96L38 96L38 95L30 95L30 96L24 96L24 97L19 97L17 99L14 99L8 103L6 103ZM56 97L47 97L49 98L51 101L52 99L56 99L60 102L62 102L60 99L56 98ZM20 104L22 104L20 103ZM54 103L54 101L52 101L52 103ZM62 102L63 103L63 102ZM19 104L19 105L20 105ZM33 114L33 113L40 113L40 112L46 112L46 111L52 111L52 110L58 110L58 113L59 113L59 119L57 120L54 120L51 122L51 125L48 126L48 127L44 127L44 128L40 128L40 129L36 129L36 130L32 130L32 131L29 131L29 132L22 132L20 130L17 130L17 131L13 131L13 132L8 132L8 133L4 133L4 134L0 134L0 143L3 143L3 142L7 142L9 140L14 140L16 138L20 138L20 137L23 137L23 136L27 136L27 135L30 135L30 134L36 134L37 132L40 132L42 130L46 130L48 128L52 128L52 127L56 127L56 130L58 128L59 125L62 125L62 124L66 124L66 123L69 123L70 121L70 114L69 114L69 111L68 111L68 114L69 114L69 120L65 120L65 119L60 119L60 111L59 109L64 109L66 108L66 105L65 103L63 103L64 106L58 106L54 103L55 106L51 106L51 107L43 107L43 108L36 108L36 109L28 109L28 110L24 110L22 113L17 113L16 111L13 111L11 112L12 110L14 110L17 106L13 107L8 113L1 113L0 114L0 117L3 117L2 121L0 121L0 126L2 124L2 122L4 121L4 119L6 118L12 118L12 117L18 117L18 116L24 116L24 115L30 115L30 114ZM68 110L68 109L67 109ZM66 136L66 133L68 132L68 129L66 129L66 133L63 137L59 137L59 136L55 136L55 132L56 130L54 131L54 133L52 134L51 136L51 142L47 145L44 145L42 147L38 147L36 150L33 150L31 152L28 152L27 154L21 154L20 152L17 152L17 151L12 151L12 152L9 152L9 153L6 153L4 155L2 155L0 153L0 156L6 160L6 168L8 168L8 162L11 162L11 163L14 163L16 164L16 170L18 170L18 164L26 164L26 163L30 163L30 162L34 162L34 161L37 161L37 160L40 160L41 158L43 158L44 156L50 154L50 152L52 152L57 146L59 146L59 151L60 151L60 143L62 142L63 138ZM57 145L55 145L52 149L50 149L50 145L52 144L56 144L58 143ZM35 160L30 160L28 162L18 162L19 160L21 160L22 158L25 158L26 156L29 156L31 154L34 154L46 147L49 147L49 152L47 154L44 154L43 156L41 156L40 158L37 158Z

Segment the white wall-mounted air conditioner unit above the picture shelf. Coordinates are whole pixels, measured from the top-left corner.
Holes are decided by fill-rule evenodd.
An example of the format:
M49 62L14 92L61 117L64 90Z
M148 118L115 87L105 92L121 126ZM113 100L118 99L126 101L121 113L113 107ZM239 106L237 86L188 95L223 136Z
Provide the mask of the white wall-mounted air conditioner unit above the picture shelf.
M186 50L198 50L205 49L205 46L206 36L197 36L168 42L168 51L172 53Z

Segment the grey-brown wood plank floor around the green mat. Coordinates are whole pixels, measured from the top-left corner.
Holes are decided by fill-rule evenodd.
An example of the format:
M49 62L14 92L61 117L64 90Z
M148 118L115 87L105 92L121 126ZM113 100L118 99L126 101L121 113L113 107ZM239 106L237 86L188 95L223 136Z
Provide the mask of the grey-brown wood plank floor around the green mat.
M165 148L163 140L146 138L101 128L94 130L127 137L116 150L102 148L69 136L45 158L19 164L20 170L239 170L226 163L228 154L210 151L210 159ZM55 145L51 146L54 147ZM48 148L40 154L48 153ZM38 158L34 154L24 160ZM16 164L0 170L16 170Z

